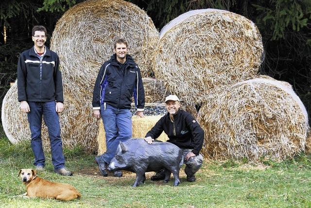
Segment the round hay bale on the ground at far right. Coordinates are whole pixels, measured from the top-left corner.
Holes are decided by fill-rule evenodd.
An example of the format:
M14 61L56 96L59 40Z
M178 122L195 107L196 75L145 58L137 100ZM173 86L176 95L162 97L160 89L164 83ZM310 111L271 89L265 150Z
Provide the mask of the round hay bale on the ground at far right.
M308 114L294 91L272 78L232 85L207 98L198 113L203 153L216 159L282 160L305 150Z

